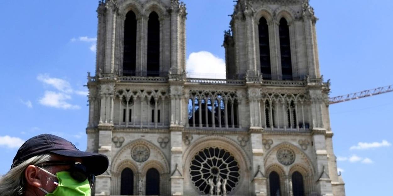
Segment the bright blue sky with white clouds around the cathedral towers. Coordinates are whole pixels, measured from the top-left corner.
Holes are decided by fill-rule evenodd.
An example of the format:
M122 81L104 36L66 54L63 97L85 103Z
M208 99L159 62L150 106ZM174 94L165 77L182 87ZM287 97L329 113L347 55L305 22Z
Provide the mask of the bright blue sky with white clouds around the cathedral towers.
M220 75L223 31L234 3L185 3L187 57L192 54L187 69L204 71L192 59L205 54L205 61L217 65L210 73ZM392 1L312 0L311 5L320 18L321 74L331 79L331 96L393 84ZM96 8L97 0L2 2L0 174L9 170L20 143L37 134L57 134L86 149L83 85L87 72L94 73ZM377 187L393 183L391 100L393 93L387 93L330 106L334 152L348 196L385 195L386 189Z

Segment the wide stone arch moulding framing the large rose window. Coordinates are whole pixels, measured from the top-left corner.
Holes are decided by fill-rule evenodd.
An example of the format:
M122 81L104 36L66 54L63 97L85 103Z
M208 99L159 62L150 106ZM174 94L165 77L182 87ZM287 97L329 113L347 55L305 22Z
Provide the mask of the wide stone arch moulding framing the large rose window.
M191 181L191 177L189 174L189 166L191 164L191 160L194 158L196 153L201 151L206 147L220 147L230 152L231 155L237 160L240 166L240 180L239 184L233 191L231 191L232 195L243 195L249 191L248 185L249 183L244 183L245 181L251 181L250 169L248 168L252 165L250 158L246 154L246 152L239 146L235 141L222 137L222 136L205 136L199 138L195 142L191 143L189 147L184 151L183 163L184 163L184 175L187 180L185 180L184 187L193 187L195 194L203 194L199 192L193 185Z

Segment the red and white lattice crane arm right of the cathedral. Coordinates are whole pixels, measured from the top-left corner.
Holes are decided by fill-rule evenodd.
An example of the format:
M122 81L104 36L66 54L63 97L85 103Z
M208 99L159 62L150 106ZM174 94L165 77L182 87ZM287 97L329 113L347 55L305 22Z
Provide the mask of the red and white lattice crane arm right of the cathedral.
M357 93L351 93L351 94L346 94L346 95L342 95L342 96L331 97L331 98L329 98L329 104L347 102L347 101L365 98L365 97L369 97L369 96L373 96L373 95L377 95L377 94L389 93L392 91L393 91L393 85L379 87L376 89L360 91Z

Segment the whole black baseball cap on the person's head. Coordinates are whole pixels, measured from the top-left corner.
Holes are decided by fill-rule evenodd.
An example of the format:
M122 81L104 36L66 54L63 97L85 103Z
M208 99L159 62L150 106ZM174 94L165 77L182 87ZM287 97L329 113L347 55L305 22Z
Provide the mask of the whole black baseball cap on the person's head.
M47 153L82 158L83 165L96 176L107 171L109 165L108 157L103 154L80 151L73 143L64 138L41 134L30 138L18 149L11 169L33 156Z

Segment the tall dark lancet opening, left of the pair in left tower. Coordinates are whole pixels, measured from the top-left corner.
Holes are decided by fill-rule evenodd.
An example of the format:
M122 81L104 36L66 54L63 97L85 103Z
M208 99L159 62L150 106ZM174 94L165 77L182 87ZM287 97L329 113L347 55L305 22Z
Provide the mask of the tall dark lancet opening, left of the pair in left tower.
M124 21L123 76L136 74L136 16L129 11Z

